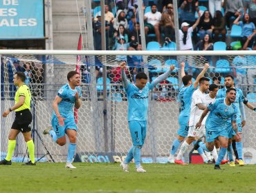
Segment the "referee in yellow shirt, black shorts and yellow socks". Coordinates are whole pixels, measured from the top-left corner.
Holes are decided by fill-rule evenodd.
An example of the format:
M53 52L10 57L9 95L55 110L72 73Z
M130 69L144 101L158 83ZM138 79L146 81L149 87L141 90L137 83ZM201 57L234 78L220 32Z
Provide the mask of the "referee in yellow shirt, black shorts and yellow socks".
M13 83L18 87L15 93L15 105L3 112L3 117L8 116L12 111L15 111L15 121L12 123L8 141L8 153L6 159L0 161L0 165L12 165L12 153L15 150L16 137L19 132L22 132L24 139L28 145L30 161L24 165L35 165L35 146L31 137L30 123L32 114L30 112L31 93L28 86L24 83L26 75L24 72L16 72L13 78Z

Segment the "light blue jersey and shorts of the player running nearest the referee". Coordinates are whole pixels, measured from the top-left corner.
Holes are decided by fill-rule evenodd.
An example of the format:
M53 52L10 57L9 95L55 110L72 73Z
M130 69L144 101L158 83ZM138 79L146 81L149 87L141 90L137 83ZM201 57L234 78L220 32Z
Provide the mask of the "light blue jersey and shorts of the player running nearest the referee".
M65 135L67 129L77 130L77 125L75 124L75 116L74 116L74 104L75 104L75 94L78 91L79 97L82 96L80 87L76 87L75 90L71 89L68 83L62 86L57 93L57 96L62 98L62 101L58 104L58 109L60 115L64 117L64 126L59 124L59 120L53 111L52 116L52 126L55 131L57 138L61 138Z

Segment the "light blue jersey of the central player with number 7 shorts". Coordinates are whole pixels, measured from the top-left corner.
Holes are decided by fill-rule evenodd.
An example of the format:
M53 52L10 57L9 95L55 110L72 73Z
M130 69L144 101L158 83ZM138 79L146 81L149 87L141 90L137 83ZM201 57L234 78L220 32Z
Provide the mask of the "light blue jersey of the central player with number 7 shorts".
M154 83L147 83L142 90L128 83L125 88L128 99L128 121L147 121L149 91L153 88Z

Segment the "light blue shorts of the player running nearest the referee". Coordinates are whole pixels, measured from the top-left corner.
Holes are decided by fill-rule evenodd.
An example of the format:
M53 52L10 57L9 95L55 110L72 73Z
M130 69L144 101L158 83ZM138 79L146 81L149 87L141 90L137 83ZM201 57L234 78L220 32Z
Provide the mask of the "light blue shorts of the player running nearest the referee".
M75 130L77 131L77 125L75 124L74 117L72 118L66 118L64 120L64 126L60 126L59 121L57 119L56 115L52 116L52 126L53 130L55 131L57 138L61 138L65 135L66 130Z

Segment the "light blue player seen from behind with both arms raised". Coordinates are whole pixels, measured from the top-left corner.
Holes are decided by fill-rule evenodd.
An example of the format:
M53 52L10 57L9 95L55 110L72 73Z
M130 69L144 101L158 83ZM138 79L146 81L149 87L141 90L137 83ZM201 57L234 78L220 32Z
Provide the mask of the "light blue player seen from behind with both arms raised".
M203 77L205 72L208 70L209 64L206 63L202 72L196 77L194 83L192 83L192 76L185 75L185 63L181 63L181 77L183 86L179 92L179 101L181 103L181 112L179 114L179 130L177 132L178 136L172 143L172 150L168 158L169 163L174 163L174 154L179 148L181 142L188 136L188 121L190 120L190 105L192 94L199 85L199 80Z

